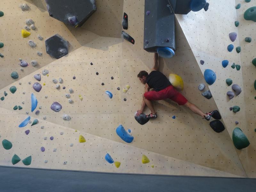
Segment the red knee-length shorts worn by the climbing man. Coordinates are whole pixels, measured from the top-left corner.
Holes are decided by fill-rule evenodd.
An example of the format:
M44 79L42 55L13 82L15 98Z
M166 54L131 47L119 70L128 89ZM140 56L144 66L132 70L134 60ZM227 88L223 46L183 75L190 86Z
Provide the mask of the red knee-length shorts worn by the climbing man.
M172 85L166 87L161 91L149 91L144 93L144 96L148 100L164 100L171 99L178 103L179 105L185 105L188 100L180 94Z

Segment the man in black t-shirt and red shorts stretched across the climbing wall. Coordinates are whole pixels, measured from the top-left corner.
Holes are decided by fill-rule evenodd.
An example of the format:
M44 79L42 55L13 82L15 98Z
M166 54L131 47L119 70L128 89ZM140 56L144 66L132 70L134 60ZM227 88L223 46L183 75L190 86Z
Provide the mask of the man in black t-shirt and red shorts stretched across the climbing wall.
M213 115L213 111L203 113L196 105L188 102L188 100L180 94L170 83L167 77L158 71L158 54L154 55L154 67L151 73L148 75L146 71L140 71L138 74L140 82L145 84L145 93L142 95L143 101L141 109L137 112L136 116L140 116L143 113L145 106L147 105L151 113L147 115L147 118L157 118L156 111L152 104L152 100L164 100L171 99L177 102L179 105L188 107L195 114L200 115L203 119L209 121ZM152 91L149 91L153 88Z

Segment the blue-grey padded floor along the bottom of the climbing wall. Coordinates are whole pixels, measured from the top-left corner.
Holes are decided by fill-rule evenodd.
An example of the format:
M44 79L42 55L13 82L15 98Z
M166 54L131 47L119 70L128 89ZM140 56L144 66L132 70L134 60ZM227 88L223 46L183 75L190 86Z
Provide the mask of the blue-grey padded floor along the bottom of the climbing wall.
M251 192L256 179L25 169L0 166L1 192Z

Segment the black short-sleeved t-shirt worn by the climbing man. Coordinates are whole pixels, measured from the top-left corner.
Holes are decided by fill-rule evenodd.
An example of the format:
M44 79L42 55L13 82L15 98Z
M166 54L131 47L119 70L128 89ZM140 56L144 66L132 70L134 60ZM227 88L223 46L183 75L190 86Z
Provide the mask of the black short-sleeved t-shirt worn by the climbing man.
M154 88L156 92L171 85L167 77L160 71L152 71L146 78L146 83L150 88Z

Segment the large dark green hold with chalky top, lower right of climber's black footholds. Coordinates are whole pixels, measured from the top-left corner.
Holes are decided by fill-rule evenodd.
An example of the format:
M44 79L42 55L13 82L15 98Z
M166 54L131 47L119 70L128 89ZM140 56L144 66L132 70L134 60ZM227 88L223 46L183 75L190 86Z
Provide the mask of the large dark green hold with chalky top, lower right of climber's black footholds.
M247 139L245 134L242 132L242 130L238 127L236 127L233 130L232 139L237 149L243 149L250 145L249 140Z

